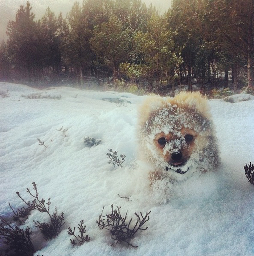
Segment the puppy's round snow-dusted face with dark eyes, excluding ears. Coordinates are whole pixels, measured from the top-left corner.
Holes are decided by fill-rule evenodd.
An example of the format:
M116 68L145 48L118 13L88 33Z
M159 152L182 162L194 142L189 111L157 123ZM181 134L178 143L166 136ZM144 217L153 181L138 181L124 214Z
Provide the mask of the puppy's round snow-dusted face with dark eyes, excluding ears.
M139 136L146 160L173 179L197 171L197 164L203 165L204 171L209 151L214 151L209 118L196 105L173 100L157 105L146 115Z

